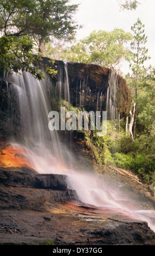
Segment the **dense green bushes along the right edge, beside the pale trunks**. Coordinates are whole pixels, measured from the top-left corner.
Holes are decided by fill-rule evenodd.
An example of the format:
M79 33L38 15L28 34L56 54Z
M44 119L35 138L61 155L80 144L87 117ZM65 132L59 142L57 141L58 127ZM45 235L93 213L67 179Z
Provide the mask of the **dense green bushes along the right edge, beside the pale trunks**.
M128 79L128 78L127 78ZM134 99L134 81L128 80ZM119 167L133 170L149 184L155 182L155 77L154 70L141 77L137 95L137 123L135 139L121 138L121 153L117 154L116 164ZM124 121L125 122L125 121Z

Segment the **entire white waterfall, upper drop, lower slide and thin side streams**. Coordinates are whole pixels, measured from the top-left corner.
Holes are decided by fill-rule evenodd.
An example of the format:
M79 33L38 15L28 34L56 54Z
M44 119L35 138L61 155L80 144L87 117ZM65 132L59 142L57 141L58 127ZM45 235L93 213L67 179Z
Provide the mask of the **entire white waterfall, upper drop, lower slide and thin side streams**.
M64 84L66 88L64 89L64 98L70 101L66 63L64 63L64 70L66 78L62 77L60 71L60 80L56 84L56 92L61 96ZM147 221L148 225L155 231L153 223L155 211L142 210L140 207L138 208L138 204L134 208L135 202L133 203L132 199L126 196L125 193L120 192L120 184L113 186L113 180L106 181L100 174L68 168L66 163L72 161L72 154L66 148L64 150L57 132L48 129L48 113L51 109L47 91L52 86L48 78L39 82L30 74L24 72L22 75L9 77L9 82L12 83L12 89L15 90L18 97L21 113L21 133L23 135L22 145L28 152L33 168L38 173L67 174L68 187L76 191L82 202L95 205L101 209L128 212L129 215L132 214ZM80 90L82 90L81 83ZM119 117L116 108L116 93L116 77L112 72L107 92L107 112L113 122Z

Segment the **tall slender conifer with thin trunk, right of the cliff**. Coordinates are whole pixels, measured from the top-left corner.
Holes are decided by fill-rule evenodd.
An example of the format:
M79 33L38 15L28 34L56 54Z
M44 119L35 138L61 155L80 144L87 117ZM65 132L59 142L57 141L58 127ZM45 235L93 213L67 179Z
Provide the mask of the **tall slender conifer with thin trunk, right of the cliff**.
M148 49L145 47L147 42L147 36L144 33L144 27L141 20L138 18L137 22L131 27L134 32L134 37L131 42L132 63L130 64L132 69L132 79L135 87L135 113L134 113L134 127L133 127L133 138L135 139L135 127L137 121L137 103L138 103L138 82L143 77L146 68L144 62L150 58L147 56Z

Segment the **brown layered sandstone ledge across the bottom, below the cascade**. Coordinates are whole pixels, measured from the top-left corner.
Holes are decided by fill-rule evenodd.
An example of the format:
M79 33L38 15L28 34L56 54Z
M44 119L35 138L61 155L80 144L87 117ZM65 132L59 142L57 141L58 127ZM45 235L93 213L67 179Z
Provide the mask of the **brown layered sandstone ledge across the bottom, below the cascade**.
M76 199L63 175L0 169L0 245L155 245L146 222Z

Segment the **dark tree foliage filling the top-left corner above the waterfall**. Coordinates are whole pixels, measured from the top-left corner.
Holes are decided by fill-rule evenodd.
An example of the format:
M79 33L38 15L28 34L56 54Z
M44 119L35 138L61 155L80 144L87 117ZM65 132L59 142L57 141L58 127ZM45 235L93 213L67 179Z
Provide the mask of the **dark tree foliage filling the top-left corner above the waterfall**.
M70 40L76 26L73 20L78 5L69 5L68 0L1 0L0 2L0 75L4 71L28 71L39 80L44 77L41 65L34 68L31 63L39 63L44 53L44 42L49 36ZM41 54L33 56L38 45ZM46 71L54 76L56 71L46 66Z

